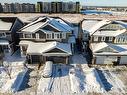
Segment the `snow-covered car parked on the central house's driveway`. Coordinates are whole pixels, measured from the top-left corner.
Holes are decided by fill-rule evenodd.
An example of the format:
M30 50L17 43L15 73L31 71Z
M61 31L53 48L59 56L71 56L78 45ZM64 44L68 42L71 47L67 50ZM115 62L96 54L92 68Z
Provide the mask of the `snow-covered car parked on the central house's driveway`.
M42 73L42 76L44 78L49 78L52 76L52 65L53 65L52 61L46 61L45 67Z

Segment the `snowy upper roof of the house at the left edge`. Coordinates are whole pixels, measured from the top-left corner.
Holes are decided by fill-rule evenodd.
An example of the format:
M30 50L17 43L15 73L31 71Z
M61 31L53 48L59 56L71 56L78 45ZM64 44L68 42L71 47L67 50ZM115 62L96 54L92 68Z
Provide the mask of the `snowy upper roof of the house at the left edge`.
M0 30L10 30L13 25L13 22L5 22L0 19Z

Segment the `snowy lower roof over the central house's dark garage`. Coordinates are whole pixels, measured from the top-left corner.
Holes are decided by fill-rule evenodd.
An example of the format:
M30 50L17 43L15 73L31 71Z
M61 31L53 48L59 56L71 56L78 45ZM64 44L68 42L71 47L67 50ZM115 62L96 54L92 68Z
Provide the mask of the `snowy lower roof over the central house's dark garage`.
M65 54L67 55L71 55L71 47L70 44L66 44L66 43L59 43L59 42L45 42L45 43L29 43L29 46L27 48L27 53L28 54L46 54L46 52L58 48L64 52L66 52ZM60 53L53 53L53 54L60 54Z

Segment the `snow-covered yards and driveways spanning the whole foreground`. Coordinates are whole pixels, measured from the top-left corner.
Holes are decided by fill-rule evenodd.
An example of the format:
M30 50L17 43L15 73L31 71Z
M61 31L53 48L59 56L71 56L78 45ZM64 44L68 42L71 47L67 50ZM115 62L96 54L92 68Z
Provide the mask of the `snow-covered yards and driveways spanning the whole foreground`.
M15 59L16 58L16 59ZM4 67L0 67L0 92L15 95L126 95L126 79L121 80L120 74L115 68L90 68L86 64L85 58L81 54L72 57L70 65L53 64L53 74L50 78L43 78L43 66L40 70L32 69L34 66L28 65L32 69L29 73L30 88L19 91L24 83L28 69L24 68L24 59L17 56L7 57L4 62L8 62L11 68L11 79L5 72ZM19 60L20 59L20 60ZM119 68L123 72L122 68ZM126 75L126 67L122 77ZM26 74L27 73L27 74ZM117 77L119 76L119 77ZM16 92L16 93L14 93Z

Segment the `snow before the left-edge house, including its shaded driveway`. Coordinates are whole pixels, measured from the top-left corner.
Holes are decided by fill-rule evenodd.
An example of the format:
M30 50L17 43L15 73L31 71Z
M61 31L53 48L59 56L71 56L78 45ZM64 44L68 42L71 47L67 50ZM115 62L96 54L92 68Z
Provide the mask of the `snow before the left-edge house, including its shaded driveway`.
M27 69L24 68L25 59L21 58L18 54L19 51L15 52L13 55L10 53L5 53L3 58L3 64L9 67L0 68L0 92L1 93L12 93L18 91ZM10 72L11 79L7 71Z

